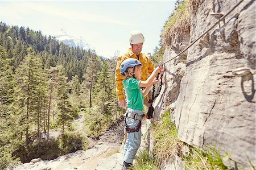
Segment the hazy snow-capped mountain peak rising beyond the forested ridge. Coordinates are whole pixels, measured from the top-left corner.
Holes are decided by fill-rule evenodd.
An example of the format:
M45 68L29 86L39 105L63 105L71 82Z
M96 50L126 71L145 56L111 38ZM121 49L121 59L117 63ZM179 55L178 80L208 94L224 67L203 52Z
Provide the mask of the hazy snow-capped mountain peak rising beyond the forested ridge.
M59 40L60 42L63 42L69 47L73 47L73 48L79 47L80 49L94 50L92 45L86 42L84 38L82 38L81 36L79 38L75 38L71 35L68 35L67 31L64 28L61 28L60 31L57 32L57 34L54 36L57 40Z

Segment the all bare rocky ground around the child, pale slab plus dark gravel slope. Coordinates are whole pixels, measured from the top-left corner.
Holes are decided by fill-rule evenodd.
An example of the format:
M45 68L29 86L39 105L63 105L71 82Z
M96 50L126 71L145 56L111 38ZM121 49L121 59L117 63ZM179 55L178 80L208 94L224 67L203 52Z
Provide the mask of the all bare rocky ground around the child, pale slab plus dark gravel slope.
M77 130L82 132L84 115L80 114L75 120ZM145 121L143 124L146 124ZM142 134L146 132L146 125L142 126ZM86 135L86 134L85 134ZM143 138L142 138L143 139ZM122 140L123 140L123 118L118 119L104 134L100 140L90 139L92 146L86 151L76 151L75 153L59 156L53 160L33 159L29 163L24 163L15 167L15 170L64 170L64 169L121 169L122 160ZM140 150L146 145L142 142Z

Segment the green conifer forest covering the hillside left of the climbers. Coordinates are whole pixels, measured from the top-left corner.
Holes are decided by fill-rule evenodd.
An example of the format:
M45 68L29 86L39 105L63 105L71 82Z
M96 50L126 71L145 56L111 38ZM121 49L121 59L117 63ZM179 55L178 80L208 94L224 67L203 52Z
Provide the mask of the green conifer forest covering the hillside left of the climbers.
M30 28L0 23L0 169L88 148L73 132L82 110L95 138L118 119L115 59L71 48ZM58 131L58 139L49 138Z

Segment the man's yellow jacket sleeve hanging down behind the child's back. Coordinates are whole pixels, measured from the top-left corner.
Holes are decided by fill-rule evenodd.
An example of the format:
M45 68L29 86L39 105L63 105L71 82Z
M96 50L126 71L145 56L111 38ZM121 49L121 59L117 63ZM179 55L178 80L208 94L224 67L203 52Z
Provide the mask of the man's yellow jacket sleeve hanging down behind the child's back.
M125 96L123 95L123 80L125 80L125 76L122 76L122 74L120 73L120 65L122 61L122 56L119 56L117 59L117 67L115 69L115 90L117 92L119 101L125 99Z

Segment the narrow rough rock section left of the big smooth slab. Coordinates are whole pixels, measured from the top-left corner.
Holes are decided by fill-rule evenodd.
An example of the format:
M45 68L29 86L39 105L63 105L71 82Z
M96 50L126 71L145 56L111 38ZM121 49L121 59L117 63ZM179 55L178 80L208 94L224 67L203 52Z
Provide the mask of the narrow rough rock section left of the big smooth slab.
M166 47L164 52L163 62L168 61L175 57L182 49L184 49L189 42L189 32L185 32L183 35L179 35L178 38L174 38L172 44ZM181 49L181 50L180 50ZM185 60L187 53L176 57L174 60L164 65L163 85L160 91L159 97L154 102L154 119L159 120L159 115L168 109L171 103L177 100L180 93L181 78L185 73ZM180 62L183 61L184 63ZM159 88L158 88L159 89ZM159 114L160 113L160 114Z

